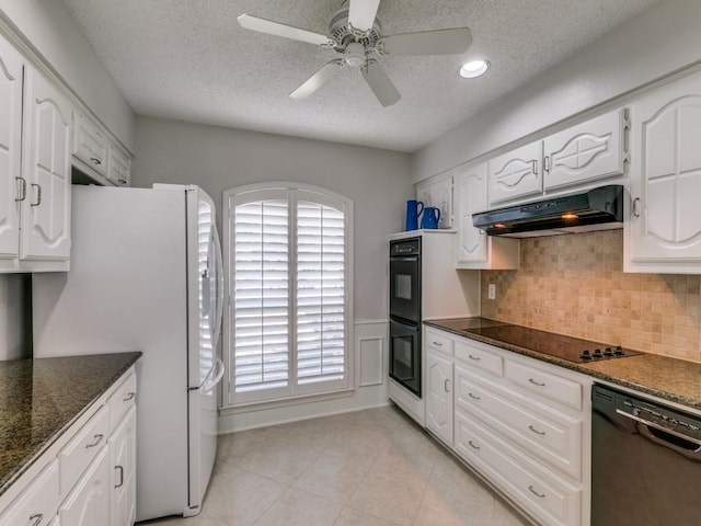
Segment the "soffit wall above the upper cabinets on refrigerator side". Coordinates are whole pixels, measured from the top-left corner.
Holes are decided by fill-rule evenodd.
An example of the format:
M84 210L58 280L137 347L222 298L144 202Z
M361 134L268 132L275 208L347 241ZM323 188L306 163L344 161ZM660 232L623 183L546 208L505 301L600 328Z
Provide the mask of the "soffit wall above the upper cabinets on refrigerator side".
M0 0L9 20L102 123L134 151L134 112L60 0Z

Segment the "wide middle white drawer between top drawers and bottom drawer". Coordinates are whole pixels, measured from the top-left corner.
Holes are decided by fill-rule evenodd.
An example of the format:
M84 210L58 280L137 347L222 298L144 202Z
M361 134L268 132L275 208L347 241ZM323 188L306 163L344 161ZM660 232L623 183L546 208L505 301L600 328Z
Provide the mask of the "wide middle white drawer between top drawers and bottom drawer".
M517 393L516 393L517 395ZM456 407L479 418L501 436L555 469L582 478L582 422L543 409L525 408L482 386L456 367Z

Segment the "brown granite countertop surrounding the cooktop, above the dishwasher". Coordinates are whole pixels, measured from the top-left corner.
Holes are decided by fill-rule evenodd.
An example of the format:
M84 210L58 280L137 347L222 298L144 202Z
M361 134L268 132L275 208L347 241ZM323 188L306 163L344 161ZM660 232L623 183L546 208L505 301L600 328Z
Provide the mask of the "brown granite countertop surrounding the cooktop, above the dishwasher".
M506 351L576 370L600 380L701 410L701 364L647 353L577 364L475 332L469 332L471 329L479 330L487 327L510 325L510 323L486 318L427 320L424 323L460 336L489 343Z

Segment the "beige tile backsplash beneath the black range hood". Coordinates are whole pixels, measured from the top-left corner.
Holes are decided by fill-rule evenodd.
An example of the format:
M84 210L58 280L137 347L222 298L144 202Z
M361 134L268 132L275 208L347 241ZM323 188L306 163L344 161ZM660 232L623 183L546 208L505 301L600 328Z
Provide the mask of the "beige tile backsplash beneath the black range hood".
M624 274L622 230L522 239L520 258L482 272L483 317L701 362L701 276Z

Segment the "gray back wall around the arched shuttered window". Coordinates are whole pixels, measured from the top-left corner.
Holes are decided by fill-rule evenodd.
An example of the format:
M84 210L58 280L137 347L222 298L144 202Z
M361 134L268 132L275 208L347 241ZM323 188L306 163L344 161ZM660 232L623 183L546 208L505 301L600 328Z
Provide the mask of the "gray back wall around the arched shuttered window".
M355 318L387 318L387 236L403 230L410 156L388 150L138 117L133 185L192 183L217 205L243 184L292 181L355 204Z

